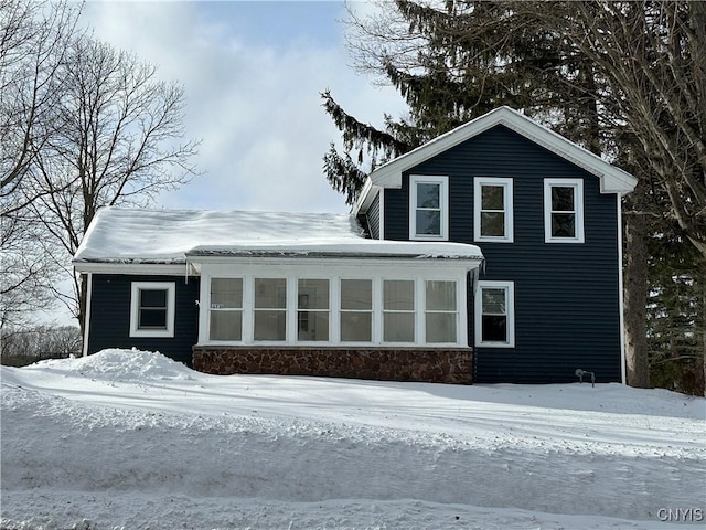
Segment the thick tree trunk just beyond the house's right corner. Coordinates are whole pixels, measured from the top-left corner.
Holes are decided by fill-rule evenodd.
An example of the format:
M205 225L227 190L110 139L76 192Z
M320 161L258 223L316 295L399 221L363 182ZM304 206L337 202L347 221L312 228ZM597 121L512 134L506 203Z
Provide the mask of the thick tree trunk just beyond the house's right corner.
M640 186L640 184L638 184ZM628 384L650 388L648 364L648 230L644 215L625 214L624 321Z

